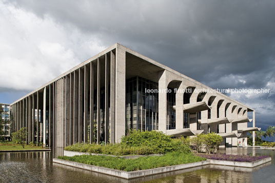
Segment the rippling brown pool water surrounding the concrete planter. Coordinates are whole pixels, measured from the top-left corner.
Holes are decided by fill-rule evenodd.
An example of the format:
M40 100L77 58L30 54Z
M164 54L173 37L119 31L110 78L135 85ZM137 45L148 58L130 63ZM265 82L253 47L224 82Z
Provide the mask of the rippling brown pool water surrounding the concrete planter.
M220 149L227 154L270 155L272 162L262 167L236 168L204 166L132 180L53 164L51 152L0 153L0 182L274 182L275 151L252 148ZM55 155L61 155L58 150Z

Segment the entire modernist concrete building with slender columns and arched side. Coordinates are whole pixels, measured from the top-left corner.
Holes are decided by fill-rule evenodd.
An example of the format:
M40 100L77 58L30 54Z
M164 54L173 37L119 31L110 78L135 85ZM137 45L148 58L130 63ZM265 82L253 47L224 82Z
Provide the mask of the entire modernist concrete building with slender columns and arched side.
M246 132L259 130L254 109L222 93L195 89L210 88L115 44L14 101L13 130L28 127L28 142L53 148L118 143L129 129L174 136L211 131L224 137L223 145L247 145ZM253 112L253 128L247 128L248 112Z

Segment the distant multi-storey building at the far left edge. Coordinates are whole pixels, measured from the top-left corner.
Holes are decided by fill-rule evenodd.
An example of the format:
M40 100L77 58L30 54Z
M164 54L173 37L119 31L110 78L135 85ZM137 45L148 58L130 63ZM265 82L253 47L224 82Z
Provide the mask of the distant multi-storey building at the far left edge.
M9 104L1 104L0 107L2 108L1 118L3 120L3 131L5 140L9 140L11 136L11 129L10 129L10 105Z

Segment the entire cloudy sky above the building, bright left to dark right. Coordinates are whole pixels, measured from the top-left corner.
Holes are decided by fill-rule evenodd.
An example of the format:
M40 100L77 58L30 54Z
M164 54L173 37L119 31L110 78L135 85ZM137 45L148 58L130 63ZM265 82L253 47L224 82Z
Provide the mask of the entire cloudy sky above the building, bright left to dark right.
M120 43L229 94L275 125L274 1L0 0L0 102Z

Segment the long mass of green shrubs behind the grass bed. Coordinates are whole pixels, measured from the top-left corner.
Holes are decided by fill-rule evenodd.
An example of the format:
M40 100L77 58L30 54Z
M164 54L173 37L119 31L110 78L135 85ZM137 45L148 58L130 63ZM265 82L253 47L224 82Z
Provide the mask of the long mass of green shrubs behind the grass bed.
M191 153L189 138L173 139L162 132L156 131L131 131L129 136L122 138L122 143L120 144L97 145L77 143L67 146L65 150L117 156L164 154L167 152Z

